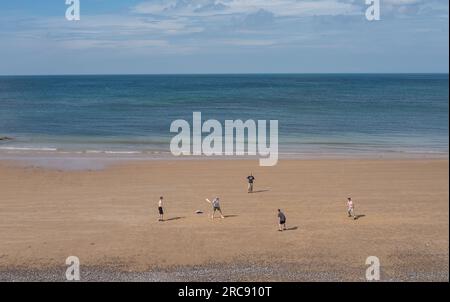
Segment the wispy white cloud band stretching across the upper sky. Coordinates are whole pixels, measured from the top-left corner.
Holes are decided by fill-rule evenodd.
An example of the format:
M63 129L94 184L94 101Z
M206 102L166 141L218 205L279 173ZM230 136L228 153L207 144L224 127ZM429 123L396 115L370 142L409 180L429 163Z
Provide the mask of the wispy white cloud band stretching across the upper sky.
M448 18L448 2L443 0L381 1L383 18L388 13L407 16L426 9L447 11ZM355 31L352 22L364 22L365 7L364 0L155 0L144 1L123 15L86 14L79 22L62 16L5 17L0 20L0 37L3 41L39 40L63 49L160 53L226 45L305 46L324 33L335 31L333 35L338 36ZM13 31L11 25L3 26L8 24L14 24Z

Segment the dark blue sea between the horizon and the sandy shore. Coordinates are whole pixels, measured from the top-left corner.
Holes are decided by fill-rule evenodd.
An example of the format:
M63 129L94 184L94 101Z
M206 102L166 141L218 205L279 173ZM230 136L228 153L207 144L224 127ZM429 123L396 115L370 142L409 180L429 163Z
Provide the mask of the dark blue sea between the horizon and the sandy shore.
M279 120L281 153L448 153L448 75L0 77L0 151L169 151L175 119Z

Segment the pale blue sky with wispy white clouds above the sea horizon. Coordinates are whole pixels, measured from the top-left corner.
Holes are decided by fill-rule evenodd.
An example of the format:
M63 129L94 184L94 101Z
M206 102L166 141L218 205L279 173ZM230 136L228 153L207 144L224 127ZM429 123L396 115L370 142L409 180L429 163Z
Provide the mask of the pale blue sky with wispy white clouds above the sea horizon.
M0 74L448 73L448 0L0 0Z

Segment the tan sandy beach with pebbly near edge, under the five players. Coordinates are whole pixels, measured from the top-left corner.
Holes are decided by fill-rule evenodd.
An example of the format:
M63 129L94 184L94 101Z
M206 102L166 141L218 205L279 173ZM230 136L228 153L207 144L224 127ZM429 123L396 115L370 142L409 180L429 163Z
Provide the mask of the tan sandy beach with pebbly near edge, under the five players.
M364 281L377 256L382 281L448 281L448 173L448 159L0 161L0 279L63 281L75 255L85 280Z

